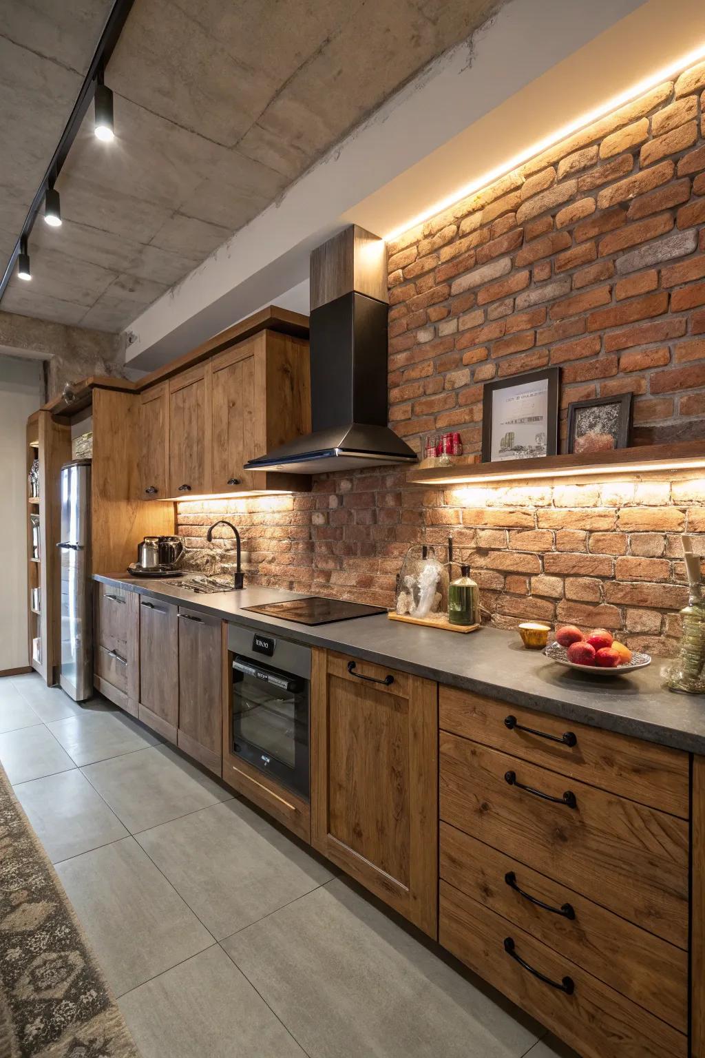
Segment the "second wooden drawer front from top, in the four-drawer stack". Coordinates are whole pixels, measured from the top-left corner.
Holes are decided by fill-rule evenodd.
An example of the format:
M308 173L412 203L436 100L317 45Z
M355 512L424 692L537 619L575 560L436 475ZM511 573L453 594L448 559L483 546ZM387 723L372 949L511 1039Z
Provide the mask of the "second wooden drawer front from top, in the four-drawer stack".
M445 731L440 750L442 820L687 947L685 820ZM562 803L569 791L574 808Z

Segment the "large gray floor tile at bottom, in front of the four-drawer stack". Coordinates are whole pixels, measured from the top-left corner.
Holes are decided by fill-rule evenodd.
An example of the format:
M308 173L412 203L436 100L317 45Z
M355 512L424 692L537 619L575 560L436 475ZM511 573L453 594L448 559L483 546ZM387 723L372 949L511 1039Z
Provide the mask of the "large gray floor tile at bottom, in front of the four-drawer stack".
M539 1035L339 879L223 948L312 1058L520 1058Z

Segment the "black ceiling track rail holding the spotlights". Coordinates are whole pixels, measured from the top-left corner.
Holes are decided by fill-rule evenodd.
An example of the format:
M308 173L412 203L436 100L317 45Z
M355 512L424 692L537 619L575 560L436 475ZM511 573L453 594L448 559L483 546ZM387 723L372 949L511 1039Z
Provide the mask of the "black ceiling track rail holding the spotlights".
M93 55L91 65L88 68L88 73L86 74L84 84L80 87L78 97L74 104L73 110L71 111L71 116L67 122L63 132L61 133L61 139L59 140L56 150L52 156L52 160L47 167L47 172L44 174L44 177L37 188L37 193L32 200L32 205L30 206L27 215L24 219L20 237L11 254L10 261L7 262L2 279L0 279L0 298L2 298L5 288L10 282L15 262L18 260L20 253L22 253L22 240L24 240L26 244L30 233L34 227L34 222L39 214L39 211L41 209L42 203L44 202L47 191L54 187L54 182L56 181L69 156L71 145L76 139L80 124L89 106L91 105L91 102L93 101L98 77L110 60L110 57L115 49L115 44L117 43L119 35L125 26L125 22L127 21L127 17L132 10L133 3L134 0L115 0L115 3L112 6L108 20L105 24L105 29L100 34L100 39L95 50L95 54ZM26 250L24 252L26 252Z

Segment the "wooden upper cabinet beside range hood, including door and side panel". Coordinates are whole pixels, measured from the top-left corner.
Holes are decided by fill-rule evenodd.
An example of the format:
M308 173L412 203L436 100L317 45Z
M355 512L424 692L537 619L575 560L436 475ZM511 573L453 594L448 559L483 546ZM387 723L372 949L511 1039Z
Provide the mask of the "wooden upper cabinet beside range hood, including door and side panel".
M309 343L260 331L214 357L212 492L302 487L300 476L246 471L248 459L311 431Z

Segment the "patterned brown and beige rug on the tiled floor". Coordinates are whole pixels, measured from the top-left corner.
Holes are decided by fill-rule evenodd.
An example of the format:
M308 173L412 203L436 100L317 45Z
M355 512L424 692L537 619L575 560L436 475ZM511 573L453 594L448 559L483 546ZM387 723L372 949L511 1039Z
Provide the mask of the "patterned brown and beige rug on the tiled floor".
M138 1058L1 765L0 1058Z

